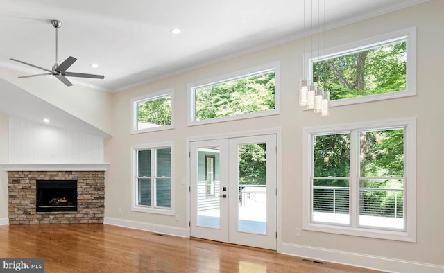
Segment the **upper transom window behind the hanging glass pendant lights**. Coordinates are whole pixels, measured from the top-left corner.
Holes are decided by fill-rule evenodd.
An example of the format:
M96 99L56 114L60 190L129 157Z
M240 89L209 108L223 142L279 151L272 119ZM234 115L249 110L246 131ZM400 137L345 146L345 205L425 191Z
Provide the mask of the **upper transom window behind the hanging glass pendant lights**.
M312 58L308 78L330 92L330 105L364 103L416 94L416 30L400 30L328 49Z

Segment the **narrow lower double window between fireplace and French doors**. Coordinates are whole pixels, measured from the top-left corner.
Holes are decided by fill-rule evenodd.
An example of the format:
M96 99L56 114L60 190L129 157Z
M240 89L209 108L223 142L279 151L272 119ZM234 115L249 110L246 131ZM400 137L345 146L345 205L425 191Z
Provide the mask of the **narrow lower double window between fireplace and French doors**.
M171 211L172 146L133 147L133 211Z

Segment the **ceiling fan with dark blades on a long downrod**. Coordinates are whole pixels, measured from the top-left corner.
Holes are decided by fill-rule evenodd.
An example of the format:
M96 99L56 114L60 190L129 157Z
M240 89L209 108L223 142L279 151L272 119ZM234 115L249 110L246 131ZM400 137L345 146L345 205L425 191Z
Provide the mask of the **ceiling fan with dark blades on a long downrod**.
M66 77L80 77L80 78L96 78L96 79L103 79L105 76L103 75L94 75L94 74L85 74L85 73L76 73L76 72L68 72L67 69L71 67L74 62L76 62L76 58L69 56L67 60L64 60L61 64L58 64L57 61L57 51L58 51L58 29L60 26L62 26L62 22L58 20L52 20L51 24L54 28L56 28L56 63L53 65L52 69L45 69L43 67L37 67L37 65L34 64L28 64L27 62L22 62L21 60L10 58L10 60L13 60L15 62L20 62L22 64L29 65L31 67L35 67L37 69L42 69L44 71L47 71L49 73L43 73L43 74L35 74L35 75L29 75L29 76L20 76L19 78L30 78L30 77L37 77L37 76L46 76L46 75L53 75L56 76L61 82L63 82L66 86L72 86L72 83L66 78Z

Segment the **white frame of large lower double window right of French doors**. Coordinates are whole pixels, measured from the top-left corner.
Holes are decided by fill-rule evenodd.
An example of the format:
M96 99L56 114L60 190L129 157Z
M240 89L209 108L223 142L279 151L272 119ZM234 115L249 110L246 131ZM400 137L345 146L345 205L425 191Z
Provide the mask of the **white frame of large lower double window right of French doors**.
M311 222L311 175L313 166L313 136L319 134L338 134L351 131L390 130L404 127L404 231L360 227L359 218L359 144L350 135L350 224L332 224ZM321 231L333 234L381 238L416 242L416 118L404 118L391 121L373 121L330 125L323 127L305 127L302 130L302 226L309 231Z

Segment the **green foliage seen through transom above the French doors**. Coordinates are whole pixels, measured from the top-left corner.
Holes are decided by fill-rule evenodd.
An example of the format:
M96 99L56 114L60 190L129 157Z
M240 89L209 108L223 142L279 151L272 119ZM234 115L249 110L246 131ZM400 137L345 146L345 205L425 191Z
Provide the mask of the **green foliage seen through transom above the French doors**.
M274 108L274 72L195 90L196 121L262 112Z

